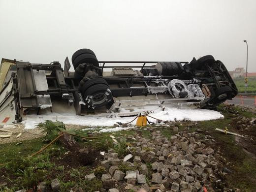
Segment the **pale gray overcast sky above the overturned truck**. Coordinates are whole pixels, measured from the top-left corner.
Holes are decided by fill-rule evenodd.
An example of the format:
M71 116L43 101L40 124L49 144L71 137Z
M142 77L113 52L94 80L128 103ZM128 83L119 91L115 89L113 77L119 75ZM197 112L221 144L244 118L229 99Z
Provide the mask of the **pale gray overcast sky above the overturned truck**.
M256 0L0 0L0 58L191 61L256 72Z

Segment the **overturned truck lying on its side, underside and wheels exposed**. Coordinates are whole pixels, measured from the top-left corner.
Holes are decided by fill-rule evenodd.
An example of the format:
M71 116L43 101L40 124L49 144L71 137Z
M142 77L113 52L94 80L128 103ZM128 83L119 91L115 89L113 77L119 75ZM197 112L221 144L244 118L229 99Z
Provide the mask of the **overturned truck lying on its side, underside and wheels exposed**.
M98 61L92 50L80 49L71 60L74 72L68 58L64 69L59 62L2 59L0 124L58 111L60 103L65 111L85 115L153 105L215 109L237 95L226 67L211 55L190 63Z

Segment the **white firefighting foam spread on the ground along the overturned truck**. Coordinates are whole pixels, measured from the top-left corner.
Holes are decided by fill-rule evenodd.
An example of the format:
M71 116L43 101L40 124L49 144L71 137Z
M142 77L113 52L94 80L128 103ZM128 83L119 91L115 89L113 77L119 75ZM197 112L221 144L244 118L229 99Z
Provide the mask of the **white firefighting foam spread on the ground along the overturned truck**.
M135 109L136 111L137 109ZM140 109L141 111L141 109ZM161 119L163 121L174 121L175 119L177 121L182 120L191 120L191 121L206 121L206 120L214 120L214 119L220 119L224 116L218 112L218 111L212 111L207 109L178 109L178 108L172 108L172 107L165 107L165 110L162 111L160 107L150 107L145 108L144 111L152 111L153 113L149 114L152 117ZM113 113L115 115L115 113ZM114 116L113 115L113 116ZM26 119L25 119L26 118ZM117 122L121 123L128 123L131 120L134 119L134 117L102 117L102 116L78 116L75 114L70 113L46 113L43 115L27 115L24 118L24 121L22 123L25 125L25 128L31 129L35 128L36 124L40 122L44 122L45 120L52 120L56 121L58 118L58 121L62 121L64 124L71 124L71 125L79 125L79 126L100 126L100 127L111 127ZM156 122L156 120L148 117L149 121ZM131 125L135 125L136 121L133 121ZM118 131L121 129L126 128L111 128L113 131ZM101 132L111 131L111 129L104 128L101 129Z

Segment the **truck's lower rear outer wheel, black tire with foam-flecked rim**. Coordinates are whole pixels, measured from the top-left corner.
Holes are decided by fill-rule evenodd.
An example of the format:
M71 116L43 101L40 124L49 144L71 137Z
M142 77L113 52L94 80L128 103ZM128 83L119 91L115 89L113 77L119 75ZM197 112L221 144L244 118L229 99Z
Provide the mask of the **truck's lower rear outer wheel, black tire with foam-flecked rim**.
M83 97L86 106L94 109L110 102L112 100L112 93L107 85L97 84L88 88Z

